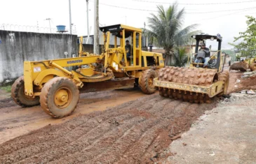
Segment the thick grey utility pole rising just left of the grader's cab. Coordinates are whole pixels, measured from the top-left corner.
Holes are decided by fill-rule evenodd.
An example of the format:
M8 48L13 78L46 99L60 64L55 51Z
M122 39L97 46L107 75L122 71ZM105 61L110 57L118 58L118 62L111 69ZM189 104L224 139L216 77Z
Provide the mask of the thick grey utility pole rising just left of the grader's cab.
M94 0L94 39L93 53L100 54L99 45L99 0Z

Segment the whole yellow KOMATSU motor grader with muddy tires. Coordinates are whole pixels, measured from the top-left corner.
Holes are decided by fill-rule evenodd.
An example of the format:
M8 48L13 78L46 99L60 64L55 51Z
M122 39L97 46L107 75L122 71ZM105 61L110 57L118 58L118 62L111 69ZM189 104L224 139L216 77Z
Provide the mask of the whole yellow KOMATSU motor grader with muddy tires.
M145 94L153 94L153 80L163 68L163 56L142 51L142 30L116 24L100 27L103 33L102 54L83 52L79 57L46 61L24 61L24 76L12 86L11 95L22 107L41 104L52 117L71 114L79 101L79 92L125 89L140 86ZM114 44L110 45L110 38ZM126 56L126 40L130 40L130 56ZM68 70L78 66L76 70Z

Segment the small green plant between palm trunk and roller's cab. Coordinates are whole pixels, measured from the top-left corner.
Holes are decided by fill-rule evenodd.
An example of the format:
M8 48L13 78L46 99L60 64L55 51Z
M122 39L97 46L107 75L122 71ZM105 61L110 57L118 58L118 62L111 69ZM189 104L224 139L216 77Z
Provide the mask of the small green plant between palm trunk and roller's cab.
M175 61L175 66L185 66L187 64L187 53L186 53L186 48L184 47L176 47L174 51L174 61Z

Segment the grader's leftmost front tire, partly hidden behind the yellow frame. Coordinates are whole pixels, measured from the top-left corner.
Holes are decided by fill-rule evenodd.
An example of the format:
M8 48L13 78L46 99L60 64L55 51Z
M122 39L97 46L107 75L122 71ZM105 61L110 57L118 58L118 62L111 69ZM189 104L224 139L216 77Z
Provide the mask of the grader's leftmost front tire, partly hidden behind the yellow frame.
M34 105L39 105L39 96L35 98L29 97L25 95L24 92L24 76L19 77L13 83L11 87L11 97L14 102L21 107L32 107Z

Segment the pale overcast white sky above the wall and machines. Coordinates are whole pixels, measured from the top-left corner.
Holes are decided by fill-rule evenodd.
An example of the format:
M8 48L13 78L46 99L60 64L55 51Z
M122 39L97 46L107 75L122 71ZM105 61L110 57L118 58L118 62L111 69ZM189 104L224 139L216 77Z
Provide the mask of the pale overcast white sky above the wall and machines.
M199 24L198 30L223 37L222 49L246 29L245 15L256 17L256 0L99 0L100 26L126 24L147 28L147 17L157 14L156 6L164 8L178 4L185 9L183 27ZM2 24L52 28L63 24L69 28L69 0L0 0L0 28ZM89 0L89 29L93 35L94 0ZM86 0L71 0L72 23L76 34L87 35ZM46 20L50 18L49 21ZM22 27L18 27L22 28ZM212 43L210 43L212 44ZM209 45L208 45L209 46ZM213 47L216 47L213 44Z

